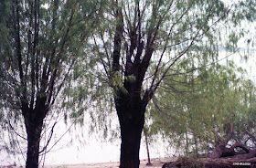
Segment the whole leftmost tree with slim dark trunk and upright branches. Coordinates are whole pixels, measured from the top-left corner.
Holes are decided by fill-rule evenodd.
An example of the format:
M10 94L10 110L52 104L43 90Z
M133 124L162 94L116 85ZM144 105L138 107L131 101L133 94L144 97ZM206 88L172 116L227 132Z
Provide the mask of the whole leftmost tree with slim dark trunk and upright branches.
M40 147L44 119L73 78L74 65L86 56L101 1L4 0L0 8L5 9L0 20L1 115L24 121L26 166L36 168L46 149Z

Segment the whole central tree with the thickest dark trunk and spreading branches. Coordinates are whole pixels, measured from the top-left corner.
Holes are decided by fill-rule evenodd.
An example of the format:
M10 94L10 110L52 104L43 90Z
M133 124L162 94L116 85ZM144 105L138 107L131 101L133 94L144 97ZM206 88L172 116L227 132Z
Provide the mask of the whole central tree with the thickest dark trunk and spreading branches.
M116 0L109 4L106 21L94 35L93 52L100 57L101 71L113 90L122 138L120 167L135 168L140 163L145 109L156 89L168 71L178 72L174 66L178 60L186 64L197 58L207 63L217 58L221 29L232 25L229 16L236 11L222 1ZM228 29L226 36L233 48L241 35Z

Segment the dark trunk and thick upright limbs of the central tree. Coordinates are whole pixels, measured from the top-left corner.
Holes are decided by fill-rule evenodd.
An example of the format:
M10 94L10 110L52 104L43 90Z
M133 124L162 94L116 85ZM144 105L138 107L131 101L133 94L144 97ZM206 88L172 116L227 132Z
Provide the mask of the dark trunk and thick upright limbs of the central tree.
M154 46L152 34L155 32L148 33L147 45L144 46L144 40L141 36L141 26L139 26L140 23L138 23L138 26L130 27L129 40L131 45L129 49L127 47L126 50L126 63L123 74L123 66L121 66L120 60L122 56L122 44L126 44L123 43L123 18L125 17L123 17L123 5L119 5L118 1L116 1L116 6L118 7L114 15L116 18L116 27L113 41L112 73L110 74L110 81L114 89L115 106L121 128L122 144L120 168L139 168L139 152L144 128L145 107L148 101L152 99L155 91L153 87L146 90L142 89L144 76L154 52L154 47L152 47ZM138 10L140 10L139 7ZM134 54L135 51L136 54ZM130 79L130 77L135 78L135 80ZM113 82L115 80L118 82ZM116 84L122 82L122 86ZM144 93L143 98L142 93Z

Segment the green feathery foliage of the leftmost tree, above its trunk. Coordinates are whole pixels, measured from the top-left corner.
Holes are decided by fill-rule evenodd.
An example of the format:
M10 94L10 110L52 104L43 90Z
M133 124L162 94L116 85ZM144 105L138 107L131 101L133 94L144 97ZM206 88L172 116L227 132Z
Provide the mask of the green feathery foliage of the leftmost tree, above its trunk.
M6 143L26 141L17 139L27 137L24 122L43 121L42 140L51 138L48 121L59 121L65 112L83 122L87 106L81 102L89 99L92 81L79 79L95 64L88 41L101 5L97 0L0 2L0 124L13 135Z

